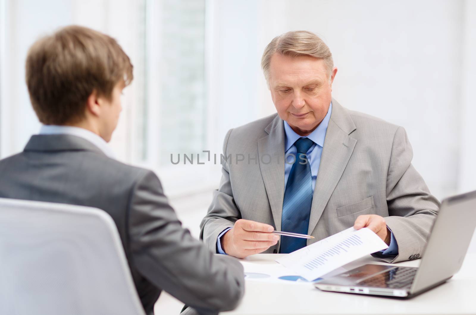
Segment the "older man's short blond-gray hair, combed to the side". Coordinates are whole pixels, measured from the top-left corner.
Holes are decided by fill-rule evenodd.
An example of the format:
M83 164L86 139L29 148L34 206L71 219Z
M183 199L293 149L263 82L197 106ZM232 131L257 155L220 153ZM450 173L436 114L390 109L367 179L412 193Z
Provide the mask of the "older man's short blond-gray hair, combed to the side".
M266 46L261 58L261 68L265 75L266 81L269 81L269 65L274 54L285 56L311 56L324 60L327 68L327 77L329 80L332 76L334 61L332 54L326 43L313 32L307 30L293 30L275 37Z

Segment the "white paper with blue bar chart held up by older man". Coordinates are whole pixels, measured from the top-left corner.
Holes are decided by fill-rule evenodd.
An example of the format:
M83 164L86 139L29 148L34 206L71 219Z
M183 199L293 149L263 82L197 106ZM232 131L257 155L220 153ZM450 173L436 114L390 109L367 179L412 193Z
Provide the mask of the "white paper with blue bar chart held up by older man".
M387 244L367 227L359 230L350 227L276 261L312 281L356 259L387 248Z

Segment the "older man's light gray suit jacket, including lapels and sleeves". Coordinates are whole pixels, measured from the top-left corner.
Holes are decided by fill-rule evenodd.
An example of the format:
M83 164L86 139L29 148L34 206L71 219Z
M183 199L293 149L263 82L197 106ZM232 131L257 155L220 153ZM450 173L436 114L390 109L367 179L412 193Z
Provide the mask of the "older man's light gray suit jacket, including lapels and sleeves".
M220 185L201 223L200 237L210 249L216 250L218 235L239 218L281 229L284 142L278 114L228 131ZM245 161L237 162L241 154ZM398 256L382 258L421 256L439 202L412 157L403 128L349 111L333 99L309 221L308 234L315 238L307 245L353 226L359 215L377 214L385 217L399 250ZM265 253L276 253L279 246Z

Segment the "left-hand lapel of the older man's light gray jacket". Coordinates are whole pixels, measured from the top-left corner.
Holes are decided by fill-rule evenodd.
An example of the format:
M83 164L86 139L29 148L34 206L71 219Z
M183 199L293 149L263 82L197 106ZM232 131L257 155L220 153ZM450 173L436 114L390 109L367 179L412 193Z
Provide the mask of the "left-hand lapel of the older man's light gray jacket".
M267 136L258 140L258 159L276 230L281 230L284 198L284 124L276 118L265 128Z

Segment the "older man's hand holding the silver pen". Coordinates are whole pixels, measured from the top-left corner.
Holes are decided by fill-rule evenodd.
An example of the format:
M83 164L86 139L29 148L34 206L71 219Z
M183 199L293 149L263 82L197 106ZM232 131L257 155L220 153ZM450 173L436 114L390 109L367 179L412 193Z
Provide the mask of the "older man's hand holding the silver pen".
M221 248L238 258L259 254L278 243L279 236L272 234L273 231L274 228L268 224L239 219L221 236Z

